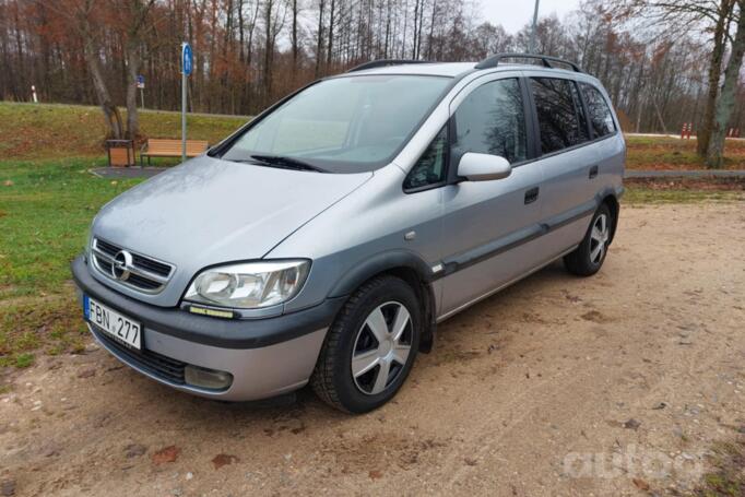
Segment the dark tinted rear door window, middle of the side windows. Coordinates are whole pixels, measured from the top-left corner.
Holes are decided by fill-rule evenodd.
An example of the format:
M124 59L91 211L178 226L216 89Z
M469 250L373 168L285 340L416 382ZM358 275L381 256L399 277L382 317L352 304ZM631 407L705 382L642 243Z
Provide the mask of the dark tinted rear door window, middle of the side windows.
M531 81L541 129L541 152L547 154L587 141L587 120L575 84L552 78Z

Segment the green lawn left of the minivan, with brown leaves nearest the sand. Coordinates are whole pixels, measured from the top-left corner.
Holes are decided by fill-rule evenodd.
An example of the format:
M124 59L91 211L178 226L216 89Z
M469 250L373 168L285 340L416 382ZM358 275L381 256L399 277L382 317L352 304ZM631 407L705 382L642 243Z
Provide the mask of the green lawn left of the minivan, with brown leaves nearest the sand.
M103 158L0 163L0 367L83 346L70 261L100 206L138 180L96 178Z

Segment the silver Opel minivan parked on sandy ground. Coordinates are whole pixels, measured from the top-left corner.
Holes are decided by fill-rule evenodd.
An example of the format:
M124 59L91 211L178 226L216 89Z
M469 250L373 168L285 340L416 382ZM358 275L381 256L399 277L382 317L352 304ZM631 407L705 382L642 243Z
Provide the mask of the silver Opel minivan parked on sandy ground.
M230 401L310 383L363 413L438 322L558 258L595 273L625 151L571 62L375 61L106 204L72 273L91 333L156 381Z

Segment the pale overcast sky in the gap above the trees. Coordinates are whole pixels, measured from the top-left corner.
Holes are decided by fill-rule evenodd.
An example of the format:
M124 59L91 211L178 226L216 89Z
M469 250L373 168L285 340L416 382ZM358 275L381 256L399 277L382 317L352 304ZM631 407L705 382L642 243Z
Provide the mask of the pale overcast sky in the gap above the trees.
M556 13L563 19L577 9L579 0L540 0L539 17ZM501 24L508 33L515 34L528 23L533 22L533 0L481 0L481 11L485 21Z

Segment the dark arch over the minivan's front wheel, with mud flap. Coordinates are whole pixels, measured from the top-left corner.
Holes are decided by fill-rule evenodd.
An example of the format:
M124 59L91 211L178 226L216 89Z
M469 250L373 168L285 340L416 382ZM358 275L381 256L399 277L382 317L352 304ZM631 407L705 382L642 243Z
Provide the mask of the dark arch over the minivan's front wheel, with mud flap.
M416 293L424 309L419 352L429 352L437 326L437 300L431 284L431 269L418 255L407 250L391 250L366 259L344 274L329 296L348 296L366 282L382 274L403 280Z

